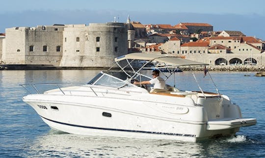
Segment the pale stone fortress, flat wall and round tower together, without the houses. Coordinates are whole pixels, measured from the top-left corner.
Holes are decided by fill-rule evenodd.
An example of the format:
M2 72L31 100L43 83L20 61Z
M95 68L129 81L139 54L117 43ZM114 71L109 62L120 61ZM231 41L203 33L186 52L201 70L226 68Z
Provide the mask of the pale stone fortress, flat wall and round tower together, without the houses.
M111 67L128 51L124 23L54 24L7 28L3 64Z

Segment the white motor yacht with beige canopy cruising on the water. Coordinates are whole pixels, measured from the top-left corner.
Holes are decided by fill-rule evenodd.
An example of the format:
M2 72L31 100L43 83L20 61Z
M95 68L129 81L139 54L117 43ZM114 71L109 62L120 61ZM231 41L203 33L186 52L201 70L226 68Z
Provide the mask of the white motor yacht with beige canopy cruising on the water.
M132 63L139 60L147 62L133 68ZM29 84L36 94L24 96L23 101L52 129L78 135L198 141L235 135L240 127L256 124L255 118L242 118L239 106L217 88L207 92L199 85L199 91L134 85L134 81L151 79L141 73L150 62L191 70L207 66L179 57L131 53L115 58L120 70L101 71L85 85L56 85L56 89L41 93L35 84ZM165 74L167 80L174 73L160 75ZM21 86L27 90L27 84Z

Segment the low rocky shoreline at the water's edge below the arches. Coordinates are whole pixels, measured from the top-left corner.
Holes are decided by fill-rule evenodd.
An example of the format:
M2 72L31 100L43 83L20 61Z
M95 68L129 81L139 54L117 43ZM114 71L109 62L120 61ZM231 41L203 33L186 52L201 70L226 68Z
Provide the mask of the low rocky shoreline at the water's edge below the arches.
M265 66L207 66L209 71L265 71ZM181 68L183 71L190 70L189 67ZM203 71L204 67L192 68L193 71Z

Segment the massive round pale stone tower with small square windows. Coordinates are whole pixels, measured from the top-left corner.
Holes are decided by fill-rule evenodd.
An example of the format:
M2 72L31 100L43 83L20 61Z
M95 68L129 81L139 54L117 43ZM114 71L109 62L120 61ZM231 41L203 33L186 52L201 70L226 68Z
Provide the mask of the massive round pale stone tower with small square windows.
M68 25L63 39L61 67L111 67L115 57L128 51L124 23Z

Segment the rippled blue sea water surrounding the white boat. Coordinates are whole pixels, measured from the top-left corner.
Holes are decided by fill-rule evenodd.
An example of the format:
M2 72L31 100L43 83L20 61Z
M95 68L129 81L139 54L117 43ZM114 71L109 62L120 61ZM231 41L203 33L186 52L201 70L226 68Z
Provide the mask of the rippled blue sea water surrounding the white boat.
M95 70L0 71L0 158L264 158L265 77L255 72L211 72L220 93L237 103L243 117L257 125L240 128L236 136L202 142L72 135L51 130L22 101L23 83L87 83ZM151 72L146 72L147 74ZM209 75L195 72L205 91L214 91ZM249 75L249 76L244 76ZM176 73L181 90L198 90L191 72ZM174 85L173 78L167 81ZM193 87L193 88L192 88Z

